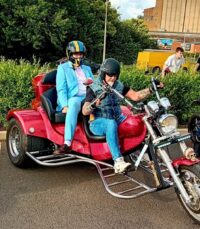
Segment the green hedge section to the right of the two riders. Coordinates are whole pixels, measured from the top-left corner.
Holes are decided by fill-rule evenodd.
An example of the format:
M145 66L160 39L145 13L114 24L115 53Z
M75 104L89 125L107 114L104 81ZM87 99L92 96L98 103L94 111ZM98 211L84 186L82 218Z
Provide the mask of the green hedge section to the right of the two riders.
M152 76L164 83L165 87L160 90L160 96L168 97L172 105L170 113L178 117L179 124L186 124L193 113L200 112L200 107L192 105L193 100L200 98L200 74L198 73L179 71L177 74L161 78L160 75L145 75L135 67L124 67L120 79L133 89L139 90L150 85ZM154 95L150 99L155 98Z

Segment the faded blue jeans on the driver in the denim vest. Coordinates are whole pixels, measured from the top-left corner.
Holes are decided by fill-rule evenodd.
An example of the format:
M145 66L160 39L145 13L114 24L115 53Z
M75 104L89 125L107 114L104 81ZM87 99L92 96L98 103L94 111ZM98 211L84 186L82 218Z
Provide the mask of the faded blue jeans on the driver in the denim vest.
M94 135L106 136L106 141L114 161L121 157L118 139L118 125L123 122L125 118L124 115L121 115L118 120L97 118L90 123L90 130Z

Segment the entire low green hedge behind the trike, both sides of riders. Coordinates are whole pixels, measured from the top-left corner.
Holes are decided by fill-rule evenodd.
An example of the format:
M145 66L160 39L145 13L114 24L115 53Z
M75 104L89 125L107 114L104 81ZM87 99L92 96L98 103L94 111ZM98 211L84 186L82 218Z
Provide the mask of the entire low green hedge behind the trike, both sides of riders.
M13 108L28 108L33 98L31 81L41 72L49 71L49 65L40 66L24 60L0 59L0 125L6 126L6 114ZM122 67L120 79L134 90L150 85L152 75L145 75L134 66ZM161 79L160 76L156 76ZM179 72L161 79L165 88L160 91L172 104L171 112L177 115L180 124L186 124L188 118L199 107L193 107L192 101L200 97L200 74ZM149 99L155 99L155 95Z

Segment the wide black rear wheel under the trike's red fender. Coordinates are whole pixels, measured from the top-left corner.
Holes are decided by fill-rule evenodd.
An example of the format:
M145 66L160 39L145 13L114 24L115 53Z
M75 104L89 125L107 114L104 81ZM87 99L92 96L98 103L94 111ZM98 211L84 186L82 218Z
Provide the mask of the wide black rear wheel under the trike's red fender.
M42 138L26 135L16 119L11 119L9 122L6 146L10 161L19 168L33 165L33 161L26 155L27 151L36 151L45 147Z

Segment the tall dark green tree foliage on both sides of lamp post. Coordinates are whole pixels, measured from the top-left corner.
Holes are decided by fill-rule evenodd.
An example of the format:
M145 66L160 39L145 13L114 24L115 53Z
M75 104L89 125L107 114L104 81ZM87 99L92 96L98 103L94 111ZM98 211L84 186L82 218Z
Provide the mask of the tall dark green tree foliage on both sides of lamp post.
M0 9L1 55L56 61L67 42L79 39L88 57L101 61L105 0L0 0ZM131 63L138 50L151 45L142 20L120 21L109 3L107 56Z

